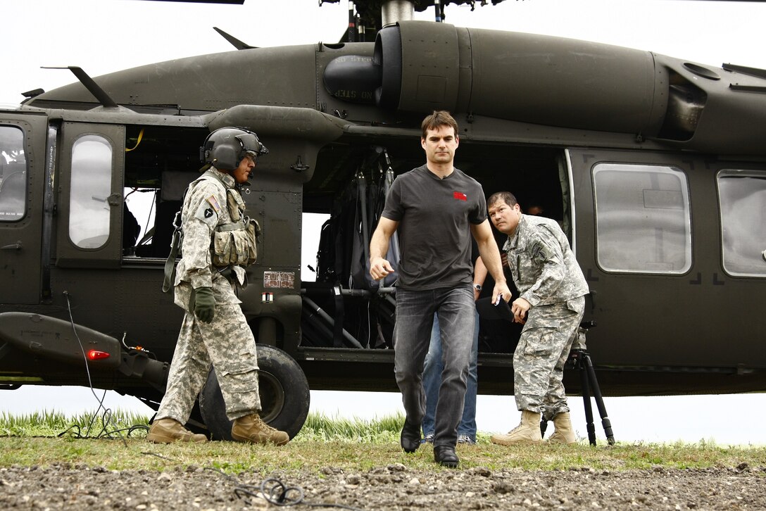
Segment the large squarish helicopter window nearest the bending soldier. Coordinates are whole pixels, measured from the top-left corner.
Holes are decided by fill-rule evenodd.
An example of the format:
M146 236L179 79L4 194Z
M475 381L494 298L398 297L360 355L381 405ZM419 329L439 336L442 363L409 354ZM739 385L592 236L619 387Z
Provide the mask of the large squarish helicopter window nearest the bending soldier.
M679 169L593 169L598 264L605 271L683 274L692 264L689 185Z

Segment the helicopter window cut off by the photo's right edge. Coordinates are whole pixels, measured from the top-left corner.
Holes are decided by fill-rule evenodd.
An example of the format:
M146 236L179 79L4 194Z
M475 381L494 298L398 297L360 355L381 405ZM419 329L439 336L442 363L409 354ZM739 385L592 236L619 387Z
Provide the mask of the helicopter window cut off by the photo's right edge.
M723 267L738 277L766 277L766 172L718 174Z

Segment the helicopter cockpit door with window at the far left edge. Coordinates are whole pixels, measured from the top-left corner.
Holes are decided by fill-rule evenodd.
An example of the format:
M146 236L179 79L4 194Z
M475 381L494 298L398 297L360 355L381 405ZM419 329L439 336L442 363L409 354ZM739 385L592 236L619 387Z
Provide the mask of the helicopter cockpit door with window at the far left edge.
M40 303L47 117L0 116L0 303Z

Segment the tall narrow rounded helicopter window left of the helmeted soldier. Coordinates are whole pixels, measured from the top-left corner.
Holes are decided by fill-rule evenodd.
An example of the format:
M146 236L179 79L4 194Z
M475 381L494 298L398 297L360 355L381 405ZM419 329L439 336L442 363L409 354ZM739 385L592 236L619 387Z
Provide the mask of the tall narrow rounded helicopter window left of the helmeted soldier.
M80 248L100 248L109 238L112 146L86 135L72 147L69 238Z

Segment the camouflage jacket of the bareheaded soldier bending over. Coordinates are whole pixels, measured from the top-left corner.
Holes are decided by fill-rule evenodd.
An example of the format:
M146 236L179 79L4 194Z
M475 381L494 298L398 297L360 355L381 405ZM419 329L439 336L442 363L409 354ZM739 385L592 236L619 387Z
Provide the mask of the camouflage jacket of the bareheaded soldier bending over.
M564 231L550 218L522 215L502 247L513 282L532 306L561 303L588 294L588 283Z

